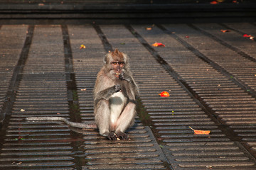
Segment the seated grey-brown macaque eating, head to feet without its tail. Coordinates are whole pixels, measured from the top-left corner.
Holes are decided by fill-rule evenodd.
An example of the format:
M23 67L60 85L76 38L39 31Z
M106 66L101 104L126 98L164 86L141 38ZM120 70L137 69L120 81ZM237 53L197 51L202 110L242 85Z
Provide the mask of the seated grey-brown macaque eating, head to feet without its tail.
M100 135L126 140L125 130L134 124L139 89L129 69L129 58L119 50L104 57L94 89L95 122Z

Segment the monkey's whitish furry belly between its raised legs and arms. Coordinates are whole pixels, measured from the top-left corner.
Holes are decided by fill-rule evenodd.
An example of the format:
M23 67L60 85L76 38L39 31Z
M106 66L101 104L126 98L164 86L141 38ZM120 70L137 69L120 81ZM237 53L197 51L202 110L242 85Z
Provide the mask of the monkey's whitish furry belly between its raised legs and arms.
M110 98L110 121L114 126L117 123L119 115L122 113L125 103L127 103L127 98L122 94L122 92L114 93Z

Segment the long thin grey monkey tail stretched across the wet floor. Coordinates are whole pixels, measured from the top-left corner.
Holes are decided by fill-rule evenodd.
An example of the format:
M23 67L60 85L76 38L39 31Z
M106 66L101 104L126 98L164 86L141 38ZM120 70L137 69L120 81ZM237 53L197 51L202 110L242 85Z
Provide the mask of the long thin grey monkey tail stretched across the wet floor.
M29 117L29 118L26 118L26 120L29 120L29 121L57 120L57 121L63 121L67 125L70 125L75 128L97 129L97 125L95 123L74 123L74 122L70 122L68 119L62 118L62 117Z

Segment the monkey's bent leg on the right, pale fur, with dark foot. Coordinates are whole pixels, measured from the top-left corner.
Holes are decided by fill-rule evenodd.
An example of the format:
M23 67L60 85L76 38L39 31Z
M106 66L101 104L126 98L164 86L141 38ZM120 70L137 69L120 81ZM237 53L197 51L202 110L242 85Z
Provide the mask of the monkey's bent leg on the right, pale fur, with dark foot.
M115 132L117 132L118 137L122 137L124 140L128 138L128 135L124 132L127 130L127 128L129 128L130 125L133 124L135 113L136 105L132 102L129 102L117 120L117 129Z

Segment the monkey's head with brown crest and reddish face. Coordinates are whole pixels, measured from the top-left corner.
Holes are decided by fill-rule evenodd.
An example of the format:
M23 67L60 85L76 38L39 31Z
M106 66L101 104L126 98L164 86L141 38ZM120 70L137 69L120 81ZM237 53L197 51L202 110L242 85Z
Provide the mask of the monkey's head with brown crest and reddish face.
M107 53L104 57L105 67L113 74L115 77L119 77L119 74L128 68L128 57L119 50L115 49L113 52Z

